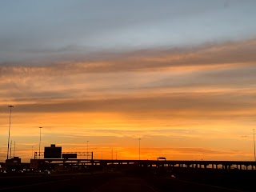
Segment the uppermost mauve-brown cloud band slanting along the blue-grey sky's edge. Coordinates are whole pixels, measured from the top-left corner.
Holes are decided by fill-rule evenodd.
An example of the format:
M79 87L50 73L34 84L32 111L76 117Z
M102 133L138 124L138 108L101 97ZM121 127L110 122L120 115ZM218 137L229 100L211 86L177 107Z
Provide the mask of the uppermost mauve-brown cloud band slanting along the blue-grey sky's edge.
M150 70L166 67L182 66L218 66L228 64L253 64L256 60L256 40L243 42L226 42L219 44L205 44L203 46L190 46L188 48L147 49L133 52L98 52L92 56L82 58L82 55L67 54L64 60L47 62L48 64L33 66L22 62L2 63L0 73L6 74L73 74L73 73L99 73L130 70ZM72 46L71 46L72 47ZM72 48L73 49L73 48ZM51 52L52 50L50 50ZM46 60L47 61L47 60ZM16 64L15 64L16 63ZM36 62L37 63L37 62ZM184 68L183 68L184 69ZM68 71L67 71L68 70Z

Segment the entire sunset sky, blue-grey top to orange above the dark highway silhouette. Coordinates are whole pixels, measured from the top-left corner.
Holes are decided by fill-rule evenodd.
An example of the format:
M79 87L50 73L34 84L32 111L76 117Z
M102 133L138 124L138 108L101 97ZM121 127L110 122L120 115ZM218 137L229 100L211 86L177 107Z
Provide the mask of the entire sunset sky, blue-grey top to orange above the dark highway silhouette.
M254 160L256 1L2 0L0 162ZM14 145L13 145L14 148ZM13 149L14 150L14 149ZM79 157L82 158L82 157Z

